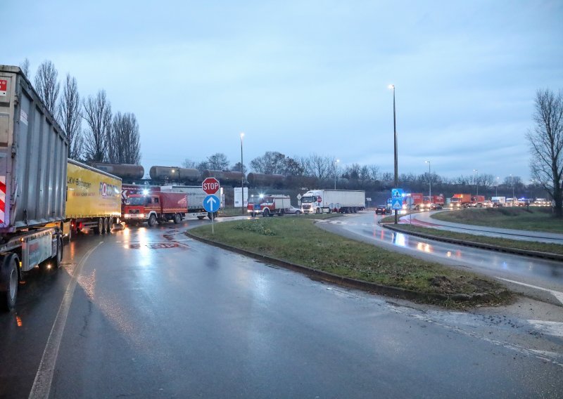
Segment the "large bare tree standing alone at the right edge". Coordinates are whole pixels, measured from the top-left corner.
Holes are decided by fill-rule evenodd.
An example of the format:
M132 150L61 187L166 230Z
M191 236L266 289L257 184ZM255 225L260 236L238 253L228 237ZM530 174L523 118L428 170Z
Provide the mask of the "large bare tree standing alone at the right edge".
M532 178L552 197L555 216L563 218L563 93L538 90L535 105L536 126L526 134Z

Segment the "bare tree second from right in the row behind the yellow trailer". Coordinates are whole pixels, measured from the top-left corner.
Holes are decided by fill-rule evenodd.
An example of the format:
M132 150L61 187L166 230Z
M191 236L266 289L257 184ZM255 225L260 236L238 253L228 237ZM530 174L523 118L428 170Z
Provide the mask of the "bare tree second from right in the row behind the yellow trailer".
M84 119L88 124L84 137L84 157L88 161L103 162L108 153L108 136L111 131L111 104L106 91L100 90L95 97L84 101Z

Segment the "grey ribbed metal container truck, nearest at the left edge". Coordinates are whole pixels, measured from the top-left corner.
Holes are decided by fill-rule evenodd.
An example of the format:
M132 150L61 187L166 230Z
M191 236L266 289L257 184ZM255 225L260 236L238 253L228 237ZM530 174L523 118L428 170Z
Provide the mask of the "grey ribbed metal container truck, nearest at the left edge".
M0 65L0 306L63 259L68 139L18 67Z

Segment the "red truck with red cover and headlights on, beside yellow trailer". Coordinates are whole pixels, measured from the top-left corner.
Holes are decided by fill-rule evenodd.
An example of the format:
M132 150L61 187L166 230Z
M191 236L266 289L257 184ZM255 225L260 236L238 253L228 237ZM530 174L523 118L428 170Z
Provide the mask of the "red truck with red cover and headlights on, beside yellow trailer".
M147 195L132 194L125 199L123 219L128 225L147 222L180 223L188 211L188 196L182 192L153 191Z

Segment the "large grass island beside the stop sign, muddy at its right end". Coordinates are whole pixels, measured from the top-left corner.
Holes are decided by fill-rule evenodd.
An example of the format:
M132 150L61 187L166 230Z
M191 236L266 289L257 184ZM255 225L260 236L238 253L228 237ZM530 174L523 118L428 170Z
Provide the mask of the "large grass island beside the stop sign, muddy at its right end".
M488 294L489 301L491 298L495 303L506 300L497 296L503 287L486 277L328 233L315 227L316 219L317 216L253 218L216 223L213 234L210 225L189 232L255 254L355 280L422 294Z

